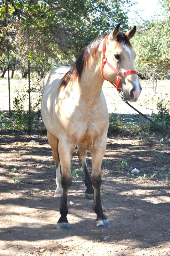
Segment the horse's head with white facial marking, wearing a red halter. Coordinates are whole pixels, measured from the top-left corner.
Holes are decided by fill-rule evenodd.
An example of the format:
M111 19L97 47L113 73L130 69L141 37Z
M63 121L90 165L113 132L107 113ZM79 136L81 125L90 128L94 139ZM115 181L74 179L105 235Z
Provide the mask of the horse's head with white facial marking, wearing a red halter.
M115 84L126 100L135 102L142 90L134 66L136 53L129 41L135 35L136 27L126 33L119 28L120 24L104 40L102 76Z

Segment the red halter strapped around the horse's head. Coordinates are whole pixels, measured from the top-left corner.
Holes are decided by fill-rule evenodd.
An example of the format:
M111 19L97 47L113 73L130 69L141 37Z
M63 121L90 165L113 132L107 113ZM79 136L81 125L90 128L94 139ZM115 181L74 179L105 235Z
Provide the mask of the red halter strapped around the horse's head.
M120 92L120 89L119 89L119 84L120 84L120 81L121 79L126 76L126 75L129 75L129 74L136 74L137 75L137 72L135 70L129 70L129 71L125 71L125 72L120 72L119 70L117 70L116 68L114 68L112 66L112 64L107 60L106 56L105 56L105 51L106 51L106 38L108 36L106 36L104 38L104 42L103 42L103 58L102 58L102 70L101 70L101 73L102 73L102 76L105 80L107 80L105 77L104 77L104 74L103 74L103 69L104 69L104 64L107 64L110 68L112 68L112 70L118 75L118 80L117 80L117 84L113 84L112 82L110 82L112 85L114 85L114 87L116 87L116 89Z

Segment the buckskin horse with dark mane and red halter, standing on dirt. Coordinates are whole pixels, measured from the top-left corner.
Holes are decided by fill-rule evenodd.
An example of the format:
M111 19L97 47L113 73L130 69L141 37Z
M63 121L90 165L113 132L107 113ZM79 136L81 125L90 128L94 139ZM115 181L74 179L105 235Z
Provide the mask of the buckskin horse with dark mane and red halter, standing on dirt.
M55 197L62 196L56 229L70 229L67 194L72 183L71 158L76 146L87 187L85 195L94 199L96 226L110 226L100 197L101 165L109 124L102 85L107 80L123 93L124 99L137 101L142 88L134 67L135 51L129 41L135 32L134 26L124 33L118 24L111 33L97 37L86 46L72 68L54 68L44 78L42 118L56 165ZM91 177L86 163L88 148Z

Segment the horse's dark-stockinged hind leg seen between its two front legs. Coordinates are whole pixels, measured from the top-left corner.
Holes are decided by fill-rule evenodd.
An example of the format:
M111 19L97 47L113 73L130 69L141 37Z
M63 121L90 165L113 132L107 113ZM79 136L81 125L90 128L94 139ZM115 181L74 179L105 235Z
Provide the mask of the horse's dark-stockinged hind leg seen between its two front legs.
M94 200L94 190L91 185L91 178L88 172L87 163L86 163L86 153L87 153L87 146L83 144L78 145L78 157L81 162L81 166L84 172L84 183L87 187L85 191L86 198L90 200Z

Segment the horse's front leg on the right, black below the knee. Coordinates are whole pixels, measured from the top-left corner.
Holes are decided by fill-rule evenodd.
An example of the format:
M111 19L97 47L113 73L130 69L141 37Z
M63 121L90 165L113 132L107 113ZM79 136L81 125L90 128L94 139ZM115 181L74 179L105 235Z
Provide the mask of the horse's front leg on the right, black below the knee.
M97 214L96 226L97 227L109 227L109 221L103 214L100 197L100 186L102 182L101 177L101 165L106 149L107 137L103 136L95 147L91 148L91 161L92 161L92 174L91 181L94 188L94 211Z

